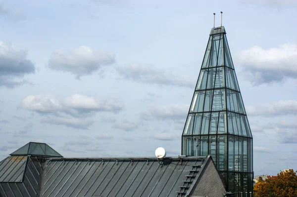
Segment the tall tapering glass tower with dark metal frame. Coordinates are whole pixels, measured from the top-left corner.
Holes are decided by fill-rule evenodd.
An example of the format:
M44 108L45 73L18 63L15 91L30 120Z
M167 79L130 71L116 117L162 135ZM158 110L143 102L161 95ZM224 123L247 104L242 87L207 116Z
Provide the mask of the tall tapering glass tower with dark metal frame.
M209 35L183 130L182 155L211 155L227 191L252 192L252 135L223 26Z

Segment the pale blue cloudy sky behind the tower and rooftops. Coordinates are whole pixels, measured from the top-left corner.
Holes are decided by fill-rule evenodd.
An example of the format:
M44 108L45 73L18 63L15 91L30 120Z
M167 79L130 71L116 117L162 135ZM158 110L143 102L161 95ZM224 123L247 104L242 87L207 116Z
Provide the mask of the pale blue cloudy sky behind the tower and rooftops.
M226 28L254 172L297 167L296 0L0 1L0 160L177 156L213 26Z

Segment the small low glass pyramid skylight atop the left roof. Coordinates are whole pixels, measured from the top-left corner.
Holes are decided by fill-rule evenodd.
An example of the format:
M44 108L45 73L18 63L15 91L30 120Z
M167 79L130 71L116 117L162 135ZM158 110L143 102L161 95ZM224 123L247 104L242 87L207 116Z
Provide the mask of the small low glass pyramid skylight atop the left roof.
M15 152L10 154L11 156L41 156L41 157L52 157L62 158L58 152L53 150L49 145L45 143L29 142L25 146L19 148Z

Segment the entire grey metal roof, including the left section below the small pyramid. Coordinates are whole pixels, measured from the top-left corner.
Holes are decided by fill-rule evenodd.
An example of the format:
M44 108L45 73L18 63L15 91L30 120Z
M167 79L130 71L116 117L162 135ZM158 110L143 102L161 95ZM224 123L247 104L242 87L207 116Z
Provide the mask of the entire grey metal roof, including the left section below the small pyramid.
M186 197L196 191L209 162L210 156L10 156L0 162L0 197Z

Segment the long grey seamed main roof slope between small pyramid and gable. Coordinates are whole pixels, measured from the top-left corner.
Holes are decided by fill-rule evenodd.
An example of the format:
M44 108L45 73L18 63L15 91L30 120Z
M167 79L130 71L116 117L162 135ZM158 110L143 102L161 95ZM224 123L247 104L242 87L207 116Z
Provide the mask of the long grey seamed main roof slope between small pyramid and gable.
M172 197L198 179L198 158L51 158L41 197ZM191 180L192 178L192 180Z

